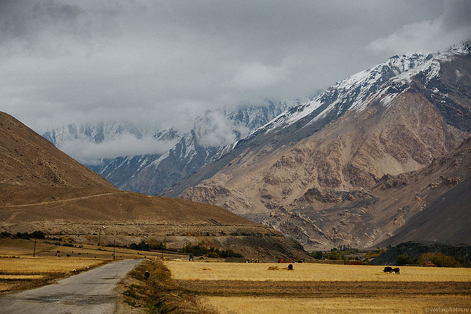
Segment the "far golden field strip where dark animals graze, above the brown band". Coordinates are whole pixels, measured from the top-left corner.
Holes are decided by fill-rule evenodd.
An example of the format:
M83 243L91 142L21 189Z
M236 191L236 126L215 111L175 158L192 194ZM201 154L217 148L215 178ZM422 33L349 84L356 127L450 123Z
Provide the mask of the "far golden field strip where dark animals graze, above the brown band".
M253 280L253 281L393 281L393 282L470 282L470 268L401 267L401 274L383 273L383 266L329 265L316 263L211 263L166 261L172 277L178 280ZM269 270L269 268L280 268Z

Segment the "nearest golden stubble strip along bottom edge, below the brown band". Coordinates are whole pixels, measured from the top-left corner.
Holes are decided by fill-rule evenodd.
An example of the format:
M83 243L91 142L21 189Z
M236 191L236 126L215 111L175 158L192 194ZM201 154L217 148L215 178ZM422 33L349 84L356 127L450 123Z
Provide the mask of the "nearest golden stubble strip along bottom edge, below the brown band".
M309 299L205 296L202 301L221 314L424 313L425 308L468 308L471 310L470 296Z

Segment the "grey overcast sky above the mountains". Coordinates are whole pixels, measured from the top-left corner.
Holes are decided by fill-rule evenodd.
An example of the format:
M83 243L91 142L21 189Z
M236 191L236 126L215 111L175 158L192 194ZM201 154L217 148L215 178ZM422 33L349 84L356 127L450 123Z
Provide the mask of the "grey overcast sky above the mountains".
M470 39L471 1L0 0L0 110L38 132L181 124L303 98L408 51Z

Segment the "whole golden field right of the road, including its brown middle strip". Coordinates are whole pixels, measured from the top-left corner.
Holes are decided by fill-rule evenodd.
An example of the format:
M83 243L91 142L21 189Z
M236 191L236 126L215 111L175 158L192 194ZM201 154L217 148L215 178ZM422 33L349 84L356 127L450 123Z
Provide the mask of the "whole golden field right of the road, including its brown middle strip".
M394 275L383 273L383 266L295 263L287 270L288 264L275 263L164 264L181 289L222 314L471 311L469 268L401 267Z

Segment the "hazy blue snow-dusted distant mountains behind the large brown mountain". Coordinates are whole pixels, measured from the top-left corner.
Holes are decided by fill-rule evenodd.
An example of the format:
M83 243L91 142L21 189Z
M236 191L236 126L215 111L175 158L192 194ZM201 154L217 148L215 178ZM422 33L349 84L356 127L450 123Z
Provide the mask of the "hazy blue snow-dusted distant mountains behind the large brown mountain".
M122 190L160 195L181 179L195 173L231 150L237 140L280 115L290 103L268 103L264 106L245 106L237 110L208 111L195 119L191 131L175 129L158 131L131 124L102 122L100 124L70 124L43 134L58 148L77 138L91 143L105 143L122 134L136 138L152 136L153 145L172 143L169 150L156 154L132 154L101 159L87 164L90 169ZM222 125L221 125L222 124ZM125 145L125 143L124 143Z

